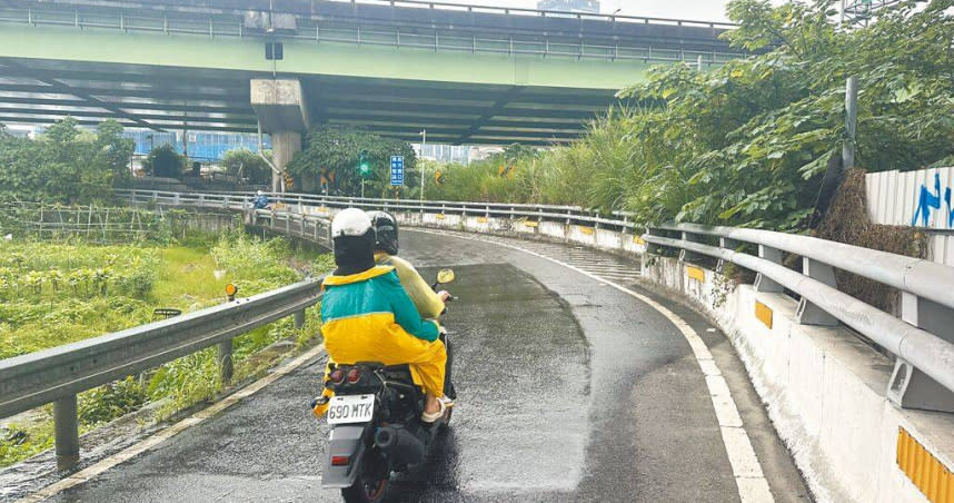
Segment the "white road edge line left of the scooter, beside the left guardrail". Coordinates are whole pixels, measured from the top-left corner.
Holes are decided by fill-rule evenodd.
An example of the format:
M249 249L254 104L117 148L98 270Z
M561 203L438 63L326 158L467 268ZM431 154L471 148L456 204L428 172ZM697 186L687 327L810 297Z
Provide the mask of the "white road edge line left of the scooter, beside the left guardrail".
M279 378L281 378L286 375L288 375L291 371L294 371L294 369L300 367L301 365L308 363L312 358L318 357L318 355L320 355L322 351L325 351L325 345L319 344L318 346L312 347L311 349L308 349L307 352L296 356L294 359L286 362L285 364L282 364L281 366L279 366L278 368L272 371L267 376L256 381L255 383L249 384L248 386L245 386L244 388L230 394L229 396L226 396L225 398L220 400L219 402L216 402L215 404L209 405L208 407L196 412L195 414L190 415L189 417L186 417L186 418L179 421L178 423L176 423L171 426L168 426L163 430L160 430L160 431L153 433L152 435L148 436L147 438L145 438L145 440L142 440L142 441L140 441L133 445L130 445L129 447L126 447L125 450L122 450L122 451L120 451L120 452L118 452L118 453L116 453L109 457L106 457L103 460L98 461L97 463L91 464L91 465L87 466L86 469L80 470L79 472L73 473L72 475L70 475L66 479L62 479L58 482L54 482L53 484L50 484L50 485L37 491L33 494L24 496L23 499L18 500L17 503L40 502L40 501L43 501L48 497L56 496L57 494L72 487L72 486L82 484L85 482L89 482L90 479L93 479L95 476L106 472L107 470L110 470L110 469L115 467L116 465L118 465L122 462L129 461L129 460L136 457L137 455L139 455L146 451L149 451L152 447L156 447L157 445L161 444L166 440L171 438L172 436L175 436L178 433L181 433L186 428L188 428L190 426L195 426L195 425L215 416L216 414L225 411L226 408L237 404L242 398L246 398L248 396L254 395L255 393L259 392L265 386L268 386L269 384L278 381Z

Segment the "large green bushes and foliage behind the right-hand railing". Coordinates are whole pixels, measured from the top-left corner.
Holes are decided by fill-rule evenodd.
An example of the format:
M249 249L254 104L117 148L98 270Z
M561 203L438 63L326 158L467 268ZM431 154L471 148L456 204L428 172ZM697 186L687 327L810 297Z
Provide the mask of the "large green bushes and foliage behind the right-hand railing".
M951 0L901 2L838 30L832 0L729 2L724 34L758 56L698 71L654 68L578 141L446 166L434 199L572 204L636 221L798 229L845 141L844 88L859 82L856 164L917 169L954 156ZM500 168L507 174L499 175Z

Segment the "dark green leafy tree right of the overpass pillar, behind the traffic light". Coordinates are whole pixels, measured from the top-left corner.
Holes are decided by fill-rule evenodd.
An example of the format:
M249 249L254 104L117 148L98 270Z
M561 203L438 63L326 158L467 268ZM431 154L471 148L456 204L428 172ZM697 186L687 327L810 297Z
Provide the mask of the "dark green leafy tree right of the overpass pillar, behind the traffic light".
M405 186L419 186L419 177L415 171L417 158L410 144L355 128L312 128L305 138L304 150L295 156L287 169L298 179L325 177L332 191L358 195L361 191L358 169L361 151L367 152L366 159L370 165L370 176L365 179L365 194L368 197L391 194L391 156L404 156Z

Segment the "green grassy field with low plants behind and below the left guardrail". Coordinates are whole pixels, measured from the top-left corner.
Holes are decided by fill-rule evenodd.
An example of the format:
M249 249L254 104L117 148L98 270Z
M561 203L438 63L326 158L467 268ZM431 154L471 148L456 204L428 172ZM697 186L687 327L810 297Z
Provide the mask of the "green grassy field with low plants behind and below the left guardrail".
M240 296L267 292L330 268L330 257L292 249L281 238L245 234L190 237L185 245L95 246L21 243L0 245L0 358L95 337L153 319L158 307L191 312L225 302L235 283ZM298 346L318 334L318 313L302 329L280 319L233 341L235 381L257 375L270 361L249 358L277 341ZM215 348L156 371L79 395L81 431L163 400L160 417L221 392ZM52 446L52 407L0 426L0 467Z

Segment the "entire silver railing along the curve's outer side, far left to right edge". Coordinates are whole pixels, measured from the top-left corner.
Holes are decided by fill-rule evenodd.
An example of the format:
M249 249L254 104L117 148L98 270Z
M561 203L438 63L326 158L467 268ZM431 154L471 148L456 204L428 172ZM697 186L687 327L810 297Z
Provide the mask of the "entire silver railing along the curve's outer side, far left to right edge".
M179 204L187 200L198 204L201 199L206 205L231 204L246 208L250 207L254 197L251 193L186 195L140 190L122 194L140 201L169 204L178 198ZM330 216L329 208L358 207L557 221L630 234L644 228L624 213L598 215L578 206L417 201L307 194L272 194L271 200L282 205L289 215L324 208L325 215ZM271 218L270 225L279 228L282 218L292 218L270 216L278 215L275 211L259 214L261 218ZM757 273L755 288L758 292L788 294L798 299L799 323L844 324L895 355L895 368L886 393L894 403L905 407L954 411L954 335L951 332L954 326L954 267L808 236L734 227L652 226L643 239L649 244L650 254L664 249L678 250L683 260L712 257ZM758 253L745 253L742 245L757 247ZM801 257L802 272L783 265L784 254ZM836 269L900 290L901 318L839 292L835 282Z

